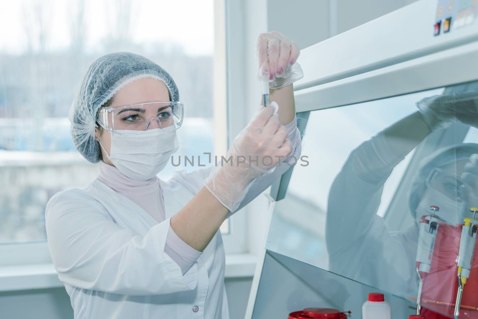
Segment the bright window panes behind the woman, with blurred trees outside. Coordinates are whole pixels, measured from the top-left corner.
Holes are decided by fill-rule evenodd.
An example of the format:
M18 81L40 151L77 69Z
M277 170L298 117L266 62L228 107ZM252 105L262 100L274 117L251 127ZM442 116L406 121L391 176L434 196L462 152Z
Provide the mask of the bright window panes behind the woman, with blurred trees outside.
M51 196L97 176L98 165L73 145L67 115L103 54L134 52L166 69L185 104L174 156L214 155L214 21L213 0L0 4L0 28L8 30L0 38L0 243L44 241ZM168 165L160 177L196 168ZM229 232L228 221L221 231Z

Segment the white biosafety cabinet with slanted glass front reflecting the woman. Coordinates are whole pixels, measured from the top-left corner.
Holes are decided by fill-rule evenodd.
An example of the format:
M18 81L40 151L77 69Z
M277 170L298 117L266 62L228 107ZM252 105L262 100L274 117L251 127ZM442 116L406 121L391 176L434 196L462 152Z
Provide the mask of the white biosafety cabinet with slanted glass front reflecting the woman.
M303 157L272 186L246 318L359 319L370 292L393 319L478 318L477 14L421 0L301 51Z

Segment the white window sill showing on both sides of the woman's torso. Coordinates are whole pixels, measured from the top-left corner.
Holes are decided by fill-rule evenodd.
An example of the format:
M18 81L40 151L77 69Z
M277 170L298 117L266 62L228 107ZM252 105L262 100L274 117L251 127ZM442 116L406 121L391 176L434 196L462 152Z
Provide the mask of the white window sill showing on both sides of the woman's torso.
M252 277L257 257L226 254L226 278ZM63 287L53 264L0 266L0 292Z

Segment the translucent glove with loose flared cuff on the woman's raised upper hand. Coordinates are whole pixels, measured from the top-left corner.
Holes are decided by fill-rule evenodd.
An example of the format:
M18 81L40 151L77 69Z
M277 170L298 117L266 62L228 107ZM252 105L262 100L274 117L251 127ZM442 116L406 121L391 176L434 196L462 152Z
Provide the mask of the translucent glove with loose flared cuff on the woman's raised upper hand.
M257 78L269 79L269 87L278 89L304 77L296 62L300 50L296 43L280 32L261 33L256 41Z

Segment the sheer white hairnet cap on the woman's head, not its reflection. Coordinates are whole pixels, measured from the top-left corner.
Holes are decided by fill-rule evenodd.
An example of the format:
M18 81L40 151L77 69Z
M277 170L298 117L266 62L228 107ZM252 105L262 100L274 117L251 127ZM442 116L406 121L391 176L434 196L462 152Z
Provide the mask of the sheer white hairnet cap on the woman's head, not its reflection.
M103 55L90 65L68 114L73 143L85 159L92 163L101 159L99 144L95 140L99 107L123 86L145 77L163 81L171 100L179 101L178 88L171 75L144 56L115 52Z

